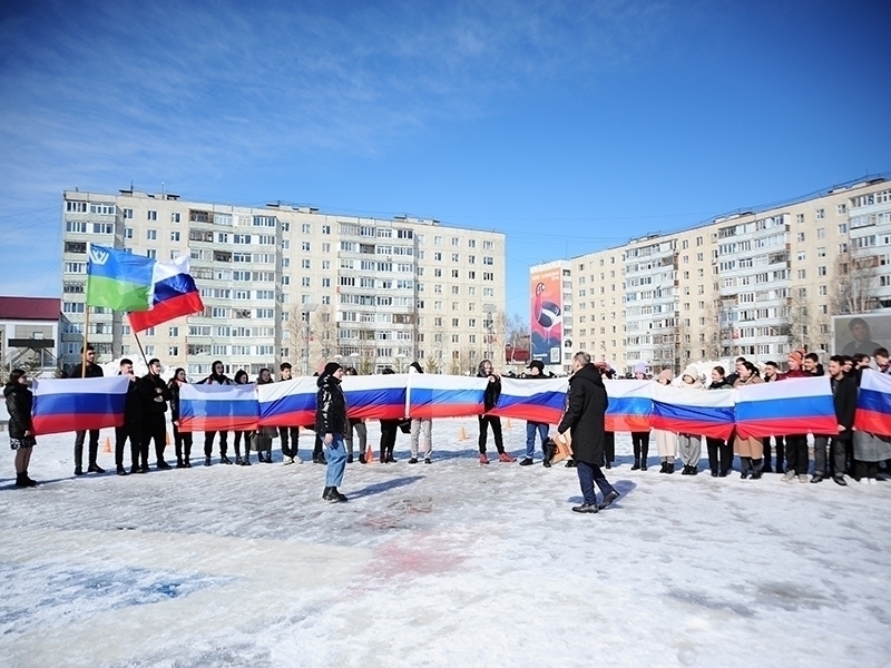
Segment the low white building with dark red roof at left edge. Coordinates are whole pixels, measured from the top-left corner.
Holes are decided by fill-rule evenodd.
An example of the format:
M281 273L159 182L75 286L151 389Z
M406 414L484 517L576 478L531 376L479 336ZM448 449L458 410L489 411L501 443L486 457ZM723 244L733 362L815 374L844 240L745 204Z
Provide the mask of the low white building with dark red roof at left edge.
M58 369L61 301L56 297L0 297L0 360L3 372L25 369L31 376Z

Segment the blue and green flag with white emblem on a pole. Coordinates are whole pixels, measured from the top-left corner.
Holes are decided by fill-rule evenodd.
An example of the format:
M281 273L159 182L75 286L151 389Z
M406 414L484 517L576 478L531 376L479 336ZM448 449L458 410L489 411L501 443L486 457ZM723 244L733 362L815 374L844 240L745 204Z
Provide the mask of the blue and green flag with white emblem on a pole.
M89 245L87 253L87 306L112 311L146 311L151 304L150 257Z

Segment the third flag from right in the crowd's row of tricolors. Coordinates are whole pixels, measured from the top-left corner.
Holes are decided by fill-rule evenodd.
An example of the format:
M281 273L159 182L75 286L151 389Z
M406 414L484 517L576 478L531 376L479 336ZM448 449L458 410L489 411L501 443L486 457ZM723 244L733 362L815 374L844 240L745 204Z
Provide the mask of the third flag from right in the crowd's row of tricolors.
M653 383L650 425L679 434L728 439L733 433L733 392L689 390Z

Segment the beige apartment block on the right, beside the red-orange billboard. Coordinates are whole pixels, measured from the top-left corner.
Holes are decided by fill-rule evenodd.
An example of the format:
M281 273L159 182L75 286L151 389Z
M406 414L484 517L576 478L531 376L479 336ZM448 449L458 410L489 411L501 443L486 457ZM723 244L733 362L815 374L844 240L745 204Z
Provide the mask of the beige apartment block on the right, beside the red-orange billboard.
M891 308L889 263L884 177L646 235L570 261L575 347L624 373L828 354L833 315Z

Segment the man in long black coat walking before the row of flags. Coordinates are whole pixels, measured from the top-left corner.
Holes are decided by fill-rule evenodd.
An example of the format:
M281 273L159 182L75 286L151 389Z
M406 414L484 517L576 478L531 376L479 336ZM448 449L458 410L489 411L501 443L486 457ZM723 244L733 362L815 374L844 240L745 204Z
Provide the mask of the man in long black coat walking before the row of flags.
M578 481L584 502L572 508L575 512L597 512L618 499L619 493L607 481L600 470L604 461L604 418L608 400L600 372L591 364L588 353L576 353L572 357L572 377L569 379L569 396L557 432L571 429L572 459L576 461ZM594 485L600 488L604 500L597 505Z

